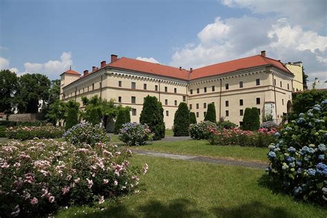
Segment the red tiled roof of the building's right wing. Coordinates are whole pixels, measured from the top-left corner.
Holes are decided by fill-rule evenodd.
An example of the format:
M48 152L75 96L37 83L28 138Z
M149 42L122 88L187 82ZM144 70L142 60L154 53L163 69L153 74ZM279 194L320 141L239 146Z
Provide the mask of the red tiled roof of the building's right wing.
M270 59L268 57L263 57L261 55L255 55L252 57L245 57L232 61L226 61L223 63L216 63L210 66L205 66L203 68L197 68L190 74L190 79L222 75L228 72L235 72L237 70L268 65L275 66L276 68L279 68L279 70L283 70L288 74L292 74L280 61Z

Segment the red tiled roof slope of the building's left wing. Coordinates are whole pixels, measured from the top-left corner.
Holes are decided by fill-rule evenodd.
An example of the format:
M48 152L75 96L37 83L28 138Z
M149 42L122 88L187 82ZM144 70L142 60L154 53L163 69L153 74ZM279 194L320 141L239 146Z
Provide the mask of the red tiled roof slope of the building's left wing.
M146 72L152 75L188 80L188 70L179 70L179 68L161 65L159 63L150 63L147 61L130 59L127 57L122 57L117 61L109 63L107 66L112 68L135 70L138 72Z

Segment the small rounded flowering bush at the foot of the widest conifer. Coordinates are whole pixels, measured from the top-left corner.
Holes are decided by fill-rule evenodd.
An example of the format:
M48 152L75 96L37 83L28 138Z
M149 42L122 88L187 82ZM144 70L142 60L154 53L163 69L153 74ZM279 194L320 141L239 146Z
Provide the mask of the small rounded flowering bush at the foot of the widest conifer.
M154 134L146 124L124 123L123 128L119 130L118 139L128 146L140 146L146 141L152 141Z

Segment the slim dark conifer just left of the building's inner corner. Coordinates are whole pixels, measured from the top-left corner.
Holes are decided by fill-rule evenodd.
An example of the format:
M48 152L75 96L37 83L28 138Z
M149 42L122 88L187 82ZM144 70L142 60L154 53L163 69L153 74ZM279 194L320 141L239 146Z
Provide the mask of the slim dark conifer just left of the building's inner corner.
M175 112L174 119L174 136L188 136L188 127L190 126L190 110L185 102L179 103Z

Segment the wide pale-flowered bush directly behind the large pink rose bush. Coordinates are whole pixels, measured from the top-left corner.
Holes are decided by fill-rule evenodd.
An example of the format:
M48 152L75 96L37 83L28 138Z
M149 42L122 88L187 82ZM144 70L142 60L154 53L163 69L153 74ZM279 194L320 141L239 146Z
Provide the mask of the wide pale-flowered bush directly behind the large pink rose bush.
M63 137L75 146L86 143L93 147L96 143L110 141L110 137L106 135L106 130L100 125L93 125L92 123L79 123L67 130Z

